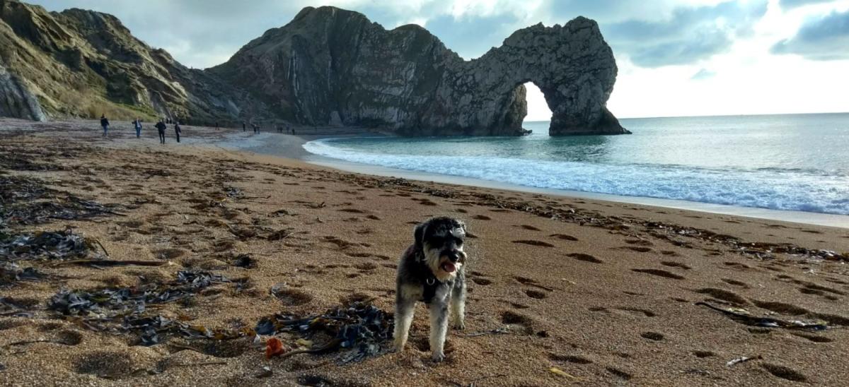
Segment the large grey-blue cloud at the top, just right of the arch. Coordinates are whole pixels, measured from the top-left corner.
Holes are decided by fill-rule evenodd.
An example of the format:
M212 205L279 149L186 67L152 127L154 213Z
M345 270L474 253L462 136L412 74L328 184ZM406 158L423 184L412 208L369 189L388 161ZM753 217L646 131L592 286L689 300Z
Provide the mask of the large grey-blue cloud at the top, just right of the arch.
M601 25L614 53L624 53L633 64L661 67L694 64L725 53L767 11L765 1L726 2L713 6L675 8L659 21L627 20Z

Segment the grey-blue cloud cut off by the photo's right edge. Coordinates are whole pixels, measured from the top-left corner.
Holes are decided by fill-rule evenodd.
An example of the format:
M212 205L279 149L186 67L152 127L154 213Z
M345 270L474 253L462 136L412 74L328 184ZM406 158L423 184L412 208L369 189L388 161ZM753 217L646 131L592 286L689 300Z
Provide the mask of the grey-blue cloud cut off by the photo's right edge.
M796 36L779 41L770 52L812 60L849 59L849 11L807 20Z

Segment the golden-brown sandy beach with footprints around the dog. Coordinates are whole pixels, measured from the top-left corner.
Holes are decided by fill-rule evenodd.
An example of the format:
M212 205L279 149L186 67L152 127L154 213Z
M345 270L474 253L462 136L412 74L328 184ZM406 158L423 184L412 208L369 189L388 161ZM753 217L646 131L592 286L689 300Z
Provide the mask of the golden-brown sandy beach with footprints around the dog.
M91 245L76 260L148 263L0 254L0 384L845 383L849 229L351 174L209 145L250 141L240 129L187 126L166 145L155 130L131 132L0 120L0 207L79 198L108 209L17 213L3 219L8 235L70 229ZM278 136L298 152L300 140ZM398 257L435 215L473 235L466 329L449 333L445 362L430 361L422 306L402 353L384 341L353 361L346 349L265 357L263 318L353 302L391 313ZM186 273L206 282L185 285ZM57 307L63 290L171 288L183 296L143 311ZM178 327L143 345L131 317ZM273 335L288 348L329 340Z

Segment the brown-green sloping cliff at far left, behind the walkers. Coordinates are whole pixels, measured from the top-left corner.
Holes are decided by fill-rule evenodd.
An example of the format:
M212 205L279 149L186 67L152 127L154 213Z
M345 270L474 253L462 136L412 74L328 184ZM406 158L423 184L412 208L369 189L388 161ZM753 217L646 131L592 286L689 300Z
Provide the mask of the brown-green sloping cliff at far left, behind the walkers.
M110 14L0 0L0 115L194 123L272 114L248 93L139 41ZM3 73L8 73L3 75Z

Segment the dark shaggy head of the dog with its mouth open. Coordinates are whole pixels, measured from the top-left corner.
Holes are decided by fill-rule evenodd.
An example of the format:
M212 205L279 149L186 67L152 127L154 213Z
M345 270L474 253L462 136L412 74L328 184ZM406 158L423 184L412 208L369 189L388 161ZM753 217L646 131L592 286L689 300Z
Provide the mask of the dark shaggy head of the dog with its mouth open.
M466 225L455 218L430 218L416 226L413 237L416 249L424 252L424 263L440 281L456 276L466 263Z

